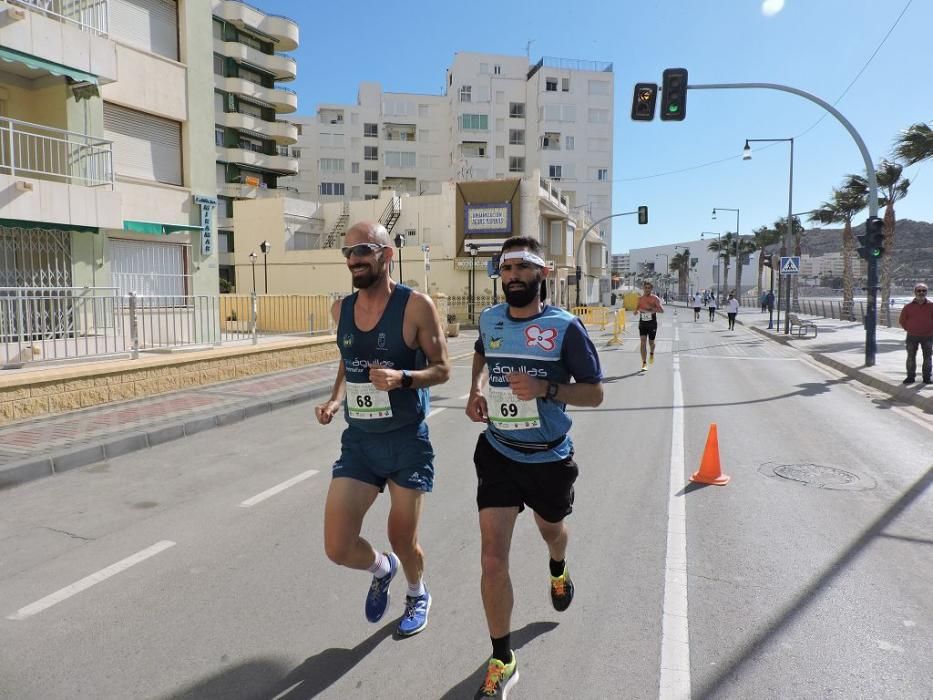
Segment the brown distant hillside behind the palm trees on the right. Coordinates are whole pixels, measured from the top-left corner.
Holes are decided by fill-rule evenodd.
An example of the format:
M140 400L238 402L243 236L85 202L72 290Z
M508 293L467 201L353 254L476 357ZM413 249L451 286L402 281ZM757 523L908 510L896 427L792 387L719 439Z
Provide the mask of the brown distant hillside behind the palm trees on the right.
M879 215L881 213L879 212ZM853 224L856 236L860 231L864 231L864 226L864 220ZM910 285L917 280L933 283L933 224L927 221L900 219L894 231L895 283ZM841 252L842 228L807 229L801 241L801 251L813 256Z

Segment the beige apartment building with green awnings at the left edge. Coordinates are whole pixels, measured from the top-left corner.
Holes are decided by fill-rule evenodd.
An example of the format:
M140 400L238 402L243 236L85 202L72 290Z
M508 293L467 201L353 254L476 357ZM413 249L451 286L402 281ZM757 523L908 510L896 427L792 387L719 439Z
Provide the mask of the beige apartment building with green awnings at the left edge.
M0 0L4 295L216 293L210 22L196 0Z

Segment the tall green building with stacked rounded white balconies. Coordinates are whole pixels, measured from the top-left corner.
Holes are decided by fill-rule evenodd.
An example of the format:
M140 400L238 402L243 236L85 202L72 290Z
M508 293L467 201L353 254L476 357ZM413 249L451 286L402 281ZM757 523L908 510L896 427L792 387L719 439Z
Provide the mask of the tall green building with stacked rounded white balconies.
M278 226L296 232L301 245L307 202L288 197L282 179L298 173L298 127L280 119L298 109L297 64L286 51L298 48L298 25L238 0L212 0L214 52L214 143L218 200L219 275L233 289L234 201L284 198ZM292 194L297 194L292 192ZM297 236L297 238L296 238ZM310 245L310 243L308 243Z

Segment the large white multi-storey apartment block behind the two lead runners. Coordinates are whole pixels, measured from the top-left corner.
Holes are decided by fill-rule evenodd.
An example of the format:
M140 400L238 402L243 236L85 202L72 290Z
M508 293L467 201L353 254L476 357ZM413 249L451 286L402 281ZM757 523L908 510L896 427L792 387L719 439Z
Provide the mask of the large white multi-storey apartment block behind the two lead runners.
M425 95L363 82L356 104L323 103L313 117L296 117L300 171L288 186L327 203L376 199L384 189L436 194L447 181L537 170L570 209L594 221L611 213L612 64L457 53L445 86ZM610 222L599 232L611 246Z

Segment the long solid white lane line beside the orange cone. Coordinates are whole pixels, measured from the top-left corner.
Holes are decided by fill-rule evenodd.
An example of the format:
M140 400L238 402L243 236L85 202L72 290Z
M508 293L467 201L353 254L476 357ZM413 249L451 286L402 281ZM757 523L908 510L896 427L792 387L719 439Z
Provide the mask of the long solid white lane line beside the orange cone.
M674 342L678 341L674 327ZM690 698L690 635L687 621L687 505L684 486L684 397L680 357L674 354L670 493L667 499L667 553L661 611L660 700Z

